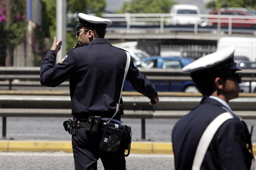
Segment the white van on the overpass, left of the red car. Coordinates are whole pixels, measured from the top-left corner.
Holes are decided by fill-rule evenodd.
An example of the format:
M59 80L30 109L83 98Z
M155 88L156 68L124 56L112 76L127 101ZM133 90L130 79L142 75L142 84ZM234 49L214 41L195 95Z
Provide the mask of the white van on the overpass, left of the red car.
M200 10L196 5L176 4L171 6L169 25L201 24Z

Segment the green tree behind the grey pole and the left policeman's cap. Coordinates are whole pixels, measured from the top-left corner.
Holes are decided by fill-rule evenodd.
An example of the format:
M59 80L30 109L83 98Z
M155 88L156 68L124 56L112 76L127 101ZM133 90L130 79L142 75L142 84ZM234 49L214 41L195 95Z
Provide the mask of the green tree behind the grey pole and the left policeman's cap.
M35 57L36 63L35 65L40 65L41 60L47 53L48 49L51 48L53 43L53 37L56 36L56 0L42 0L43 5L43 27L36 31L36 35L38 37L38 53ZM106 7L105 0L94 0L93 3L89 0L67 0L67 12L68 13L93 13L97 16L100 16ZM72 27L78 24L78 17L76 17L72 22ZM42 33L42 34L41 34ZM40 34L44 37L44 41L42 43L42 39L39 38ZM42 37L42 38L43 38ZM58 38L58 37L57 37ZM74 31L67 31L66 34L66 52L71 48L76 46L77 39Z

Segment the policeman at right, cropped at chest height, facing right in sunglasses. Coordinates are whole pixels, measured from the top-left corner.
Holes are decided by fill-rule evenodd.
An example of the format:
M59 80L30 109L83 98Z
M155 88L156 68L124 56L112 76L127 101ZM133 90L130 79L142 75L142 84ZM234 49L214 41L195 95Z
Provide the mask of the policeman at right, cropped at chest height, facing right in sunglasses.
M197 59L183 68L203 98L172 131L175 170L249 170L251 134L229 100L239 97L241 70L234 47Z

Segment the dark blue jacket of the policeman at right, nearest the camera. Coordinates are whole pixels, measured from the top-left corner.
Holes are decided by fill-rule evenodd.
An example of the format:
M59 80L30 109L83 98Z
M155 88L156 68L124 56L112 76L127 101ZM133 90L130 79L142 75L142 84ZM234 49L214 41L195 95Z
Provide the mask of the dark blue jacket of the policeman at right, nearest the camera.
M202 134L211 121L224 112L228 112L224 105L205 97L199 106L176 123L172 131L175 170L191 170ZM251 136L240 117L231 114L234 118L225 121L215 133L201 170L250 169Z

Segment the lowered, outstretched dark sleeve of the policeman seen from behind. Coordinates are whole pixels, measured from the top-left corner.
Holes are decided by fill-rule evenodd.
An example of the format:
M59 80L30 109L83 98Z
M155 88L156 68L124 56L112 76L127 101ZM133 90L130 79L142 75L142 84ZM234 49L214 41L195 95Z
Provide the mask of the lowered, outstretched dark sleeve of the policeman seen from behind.
M126 76L126 80L130 81L132 87L139 93L147 96L149 99L154 99L157 96L156 87L149 79L134 66L133 61L130 62L130 67Z

